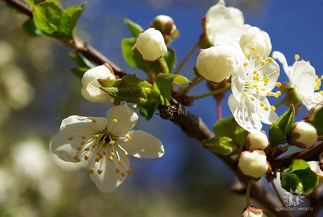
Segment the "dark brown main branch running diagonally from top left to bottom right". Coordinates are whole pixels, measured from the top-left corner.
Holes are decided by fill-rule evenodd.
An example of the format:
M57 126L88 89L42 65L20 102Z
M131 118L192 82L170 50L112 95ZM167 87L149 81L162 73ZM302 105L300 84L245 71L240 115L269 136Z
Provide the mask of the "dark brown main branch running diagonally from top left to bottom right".
M20 2L19 0L2 0L6 2L8 5L16 8L18 11L26 14L28 17L32 18L32 9ZM94 49L92 46L84 42L82 39L75 37L74 40L67 38L60 38L60 40L67 45L68 47L82 53L89 60L96 62L97 64L108 63L113 68L115 74L122 76L126 73L114 64L112 61L107 59L104 55ZM202 142L204 139L210 139L214 137L214 134L210 131L210 129L206 126L203 120L200 117L190 114L184 106L176 102L172 99L172 105L176 105L178 109L178 117L172 119L175 124L179 125L182 130L192 138L195 138L199 142ZM217 155L232 171L234 171L235 175L239 179L241 183L245 186L248 183L248 178L244 176L242 173L238 172L237 169L237 156L235 157L227 157L222 155ZM279 213L275 211L275 207L280 206L278 200L274 198L274 196L268 193L265 190L265 187L262 186L261 183L257 182L252 186L250 196L265 206L271 212L279 215L283 213Z

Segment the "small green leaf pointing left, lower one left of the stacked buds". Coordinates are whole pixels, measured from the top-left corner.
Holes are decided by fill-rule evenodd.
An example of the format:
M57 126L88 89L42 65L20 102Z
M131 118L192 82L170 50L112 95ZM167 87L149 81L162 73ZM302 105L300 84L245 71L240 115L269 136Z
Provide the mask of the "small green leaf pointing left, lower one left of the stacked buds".
M236 145L229 137L211 138L202 141L203 148L221 155L229 155L237 150Z

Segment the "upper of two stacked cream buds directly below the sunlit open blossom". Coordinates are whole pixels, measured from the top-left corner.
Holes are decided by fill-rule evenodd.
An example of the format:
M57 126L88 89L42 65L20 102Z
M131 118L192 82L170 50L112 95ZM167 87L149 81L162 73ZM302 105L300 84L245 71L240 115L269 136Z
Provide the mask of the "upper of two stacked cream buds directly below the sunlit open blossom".
M245 146L249 151L254 149L264 150L268 147L269 141L264 131L258 133L248 133L245 140Z

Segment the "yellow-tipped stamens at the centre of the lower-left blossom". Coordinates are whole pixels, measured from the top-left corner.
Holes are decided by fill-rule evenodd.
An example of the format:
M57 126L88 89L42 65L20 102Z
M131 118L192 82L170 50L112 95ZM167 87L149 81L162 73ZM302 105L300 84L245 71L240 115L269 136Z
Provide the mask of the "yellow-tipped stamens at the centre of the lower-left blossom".
M93 118L92 123L96 124L96 122L96 119ZM117 122L117 119L113 119L112 125ZM80 162L82 158L87 161L91 155L95 155L91 156L95 157L95 160L92 165L89 165L89 169L87 170L88 174L92 174L94 172L93 168L97 163L99 164L99 168L96 172L100 175L102 173L102 163L104 160L107 160L109 163L114 163L116 168L115 172L120 173L120 176L125 177L126 173L130 174L132 173L132 170L128 168L125 162L122 161L120 154L121 151L124 152L127 157L129 154L120 144L118 144L118 140L130 140L131 137L129 135L126 135L125 137L111 135L109 133L110 128L105 129L104 131L100 131L98 129L98 132L95 134L82 135L80 146L76 148L79 153L75 155L73 159L76 162ZM68 138L68 140L73 140L73 137Z

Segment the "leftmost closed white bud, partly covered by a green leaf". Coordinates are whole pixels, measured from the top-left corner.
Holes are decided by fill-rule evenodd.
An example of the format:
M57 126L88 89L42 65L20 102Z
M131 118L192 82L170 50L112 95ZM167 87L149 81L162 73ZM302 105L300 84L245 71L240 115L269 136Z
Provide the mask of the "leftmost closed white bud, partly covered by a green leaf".
M113 70L110 65L104 63L104 65L96 66L87 70L82 77L82 96L94 103L104 103L111 99L111 97L100 90L100 84L97 79L116 79Z

